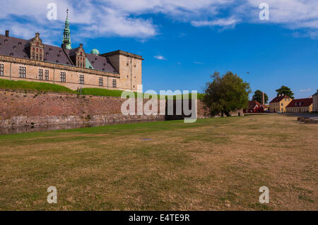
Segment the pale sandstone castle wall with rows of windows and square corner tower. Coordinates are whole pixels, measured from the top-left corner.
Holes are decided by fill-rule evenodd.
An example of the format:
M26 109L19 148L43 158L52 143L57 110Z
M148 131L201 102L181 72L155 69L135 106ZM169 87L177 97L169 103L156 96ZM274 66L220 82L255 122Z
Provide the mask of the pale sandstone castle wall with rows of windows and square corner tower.
M141 60L128 56L118 55L119 60L114 61L113 66L121 68L121 72L107 73L95 71L88 68L66 66L56 63L34 61L31 59L19 59L10 56L0 56L0 64L4 65L4 75L1 79L26 80L41 83L54 83L76 90L79 87L97 87L109 90L137 90L141 85ZM25 78L19 77L20 66L25 67ZM39 70L43 75L40 80ZM45 80L45 71L49 71L49 80ZM66 73L66 81L61 82L61 73ZM80 84L80 75L84 75L84 84ZM103 86L100 86L100 78L103 79ZM116 87L113 87L113 80L116 80Z

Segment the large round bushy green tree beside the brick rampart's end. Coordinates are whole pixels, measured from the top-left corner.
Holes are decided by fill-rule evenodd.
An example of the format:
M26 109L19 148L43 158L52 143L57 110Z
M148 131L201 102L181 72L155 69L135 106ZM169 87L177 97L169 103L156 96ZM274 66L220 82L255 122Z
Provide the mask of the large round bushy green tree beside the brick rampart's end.
M223 77L214 72L211 78L213 81L206 83L203 101L212 116L230 116L230 111L247 107L251 92L249 83L230 71Z

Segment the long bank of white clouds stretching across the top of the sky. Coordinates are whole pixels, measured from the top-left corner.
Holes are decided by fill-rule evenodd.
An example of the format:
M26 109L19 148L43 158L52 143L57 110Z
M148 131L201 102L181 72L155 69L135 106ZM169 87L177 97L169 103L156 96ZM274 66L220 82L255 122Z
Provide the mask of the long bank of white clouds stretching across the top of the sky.
M39 30L52 42L60 34L69 7L72 34L79 37L134 37L147 39L158 35L158 13L196 27L234 28L238 23L274 23L299 33L318 37L317 0L266 0L269 20L259 20L259 4L264 0L54 0L57 21L47 20L47 4L52 0L11 0L1 2L0 29L29 37ZM29 31L30 30L30 31ZM41 33L41 35L42 35Z

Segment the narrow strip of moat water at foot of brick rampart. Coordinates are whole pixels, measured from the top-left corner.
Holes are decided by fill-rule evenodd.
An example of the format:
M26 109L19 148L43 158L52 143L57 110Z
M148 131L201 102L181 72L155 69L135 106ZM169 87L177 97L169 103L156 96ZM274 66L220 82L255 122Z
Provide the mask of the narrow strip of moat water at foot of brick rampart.
M109 123L81 123L81 124L65 124L65 125L50 125L50 126L23 126L17 128L0 128L0 135L15 134L15 133L32 133L39 131L49 130L71 130L78 128L92 128L98 126L112 126L116 124L128 124L128 123L146 123L160 120L136 120L136 121L118 121Z

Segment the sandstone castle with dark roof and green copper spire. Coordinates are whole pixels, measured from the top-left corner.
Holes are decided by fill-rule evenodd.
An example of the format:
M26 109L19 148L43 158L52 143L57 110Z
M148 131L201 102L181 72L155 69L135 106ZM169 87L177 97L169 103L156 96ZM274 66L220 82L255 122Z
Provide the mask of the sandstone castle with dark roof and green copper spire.
M0 79L55 83L77 90L98 87L137 90L141 85L143 57L126 51L86 53L83 44L72 49L69 18L66 16L61 47L44 44L40 34L32 39L0 35Z

